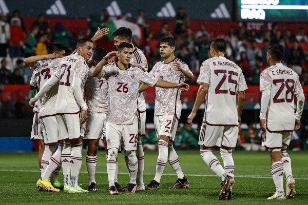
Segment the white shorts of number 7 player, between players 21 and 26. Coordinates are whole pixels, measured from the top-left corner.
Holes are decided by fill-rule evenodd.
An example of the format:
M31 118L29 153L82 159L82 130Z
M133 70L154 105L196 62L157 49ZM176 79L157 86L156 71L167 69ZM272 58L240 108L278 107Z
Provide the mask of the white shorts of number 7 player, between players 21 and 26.
M100 139L102 136L106 136L106 117L107 113L89 112L84 139Z

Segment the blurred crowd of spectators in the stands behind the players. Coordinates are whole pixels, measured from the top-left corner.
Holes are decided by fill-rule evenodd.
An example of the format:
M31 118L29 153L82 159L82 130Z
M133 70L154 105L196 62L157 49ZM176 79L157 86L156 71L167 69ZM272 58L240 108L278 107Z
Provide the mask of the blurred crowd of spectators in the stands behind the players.
M184 8L177 9L172 19L172 27L163 22L158 30L152 30L144 10L140 9L136 17L127 13L111 17L107 10L102 15L89 15L88 33L82 31L73 36L61 22L51 28L44 14L39 14L30 28L26 28L20 11L15 10L6 16L0 13L0 85L28 84L31 71L22 63L22 59L31 55L47 54L48 45L58 42L71 48L78 39L93 36L97 28L108 27L107 40L113 40L111 33L117 29L117 21L124 25L138 25L141 35L133 36L133 44L142 49L148 59L149 70L160 59L158 40L165 36L176 39L176 55L192 70L195 78L188 83L195 84L202 62L209 58L209 46L217 37L206 30L206 23L200 23L199 30L192 32L189 16ZM260 30L249 30L245 23L238 29L230 27L223 36L227 41L226 57L235 61L243 70L248 85L258 85L260 72L267 67L266 51L271 44L281 44L285 47L283 64L299 74L302 85L308 85L308 53L304 53L303 44L308 42L304 28L293 31L279 28L273 24L272 30L261 27ZM153 46L153 43L156 43ZM5 59L5 60L3 60ZM22 80L23 79L23 80Z

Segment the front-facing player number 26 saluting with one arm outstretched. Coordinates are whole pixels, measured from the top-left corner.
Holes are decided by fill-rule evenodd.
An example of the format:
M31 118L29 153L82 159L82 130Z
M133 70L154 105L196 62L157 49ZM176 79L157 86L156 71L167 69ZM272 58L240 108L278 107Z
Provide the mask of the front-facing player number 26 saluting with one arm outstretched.
M136 157L138 141L138 94L142 92L141 83L147 86L158 86L163 88L179 88L188 90L189 86L184 83L175 84L156 79L146 73L144 68L131 65L132 45L121 43L119 52L109 52L103 60L95 67L93 76L104 77L108 84L108 108L106 140L108 147L107 173L109 180L109 193L118 194L114 186L116 158L120 140L124 141L124 150L127 153L130 181L127 193L134 193L137 189L138 159ZM105 65L109 58L117 55L118 63Z

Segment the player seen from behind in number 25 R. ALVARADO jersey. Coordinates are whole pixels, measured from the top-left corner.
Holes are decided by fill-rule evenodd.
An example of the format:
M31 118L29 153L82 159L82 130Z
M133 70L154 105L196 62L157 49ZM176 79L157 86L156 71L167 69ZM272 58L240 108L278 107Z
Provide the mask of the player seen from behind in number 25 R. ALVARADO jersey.
M203 124L199 136L200 155L207 166L222 180L220 200L233 199L234 161L232 149L238 138L238 127L245 102L246 81L242 70L224 57L226 42L222 38L214 39L210 45L211 58L203 61L197 83L200 88L194 107L187 118L192 125L198 108L206 99ZM236 105L238 95L238 106ZM213 154L214 147L220 147L223 160L221 166Z

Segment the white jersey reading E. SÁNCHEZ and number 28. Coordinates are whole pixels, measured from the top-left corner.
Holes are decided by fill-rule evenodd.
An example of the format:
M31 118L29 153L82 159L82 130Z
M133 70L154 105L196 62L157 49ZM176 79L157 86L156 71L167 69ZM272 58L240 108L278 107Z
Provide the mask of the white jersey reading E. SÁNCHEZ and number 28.
M294 130L294 95L303 92L296 72L281 63L261 72L260 91L270 90L271 99L267 107L267 125L269 131Z

